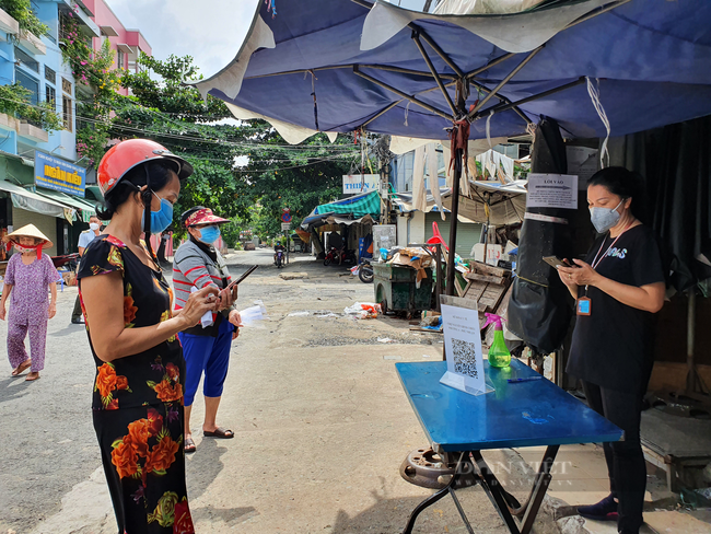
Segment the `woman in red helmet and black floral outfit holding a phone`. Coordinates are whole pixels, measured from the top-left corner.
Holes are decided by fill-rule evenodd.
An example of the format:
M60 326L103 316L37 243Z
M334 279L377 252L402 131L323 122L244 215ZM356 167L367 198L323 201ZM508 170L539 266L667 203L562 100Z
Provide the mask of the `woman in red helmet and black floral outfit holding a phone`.
M221 302L217 289L206 288L174 315L171 289L150 242L141 241L143 231L160 233L171 223L179 179L191 173L183 159L142 139L114 146L98 166L100 216L112 222L86 247L79 280L96 367L94 428L119 534L195 532L176 335Z

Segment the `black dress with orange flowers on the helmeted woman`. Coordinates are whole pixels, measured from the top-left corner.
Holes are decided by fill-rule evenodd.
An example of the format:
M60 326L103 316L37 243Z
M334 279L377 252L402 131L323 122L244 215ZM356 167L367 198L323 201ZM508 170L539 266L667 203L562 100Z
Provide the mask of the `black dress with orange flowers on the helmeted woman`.
M147 267L110 235L94 240L79 280L120 272L124 323L140 328L172 316L173 293L161 271ZM86 330L92 323L82 301ZM185 360L177 337L110 363L96 357L94 429L121 534L194 533L185 486L183 384Z

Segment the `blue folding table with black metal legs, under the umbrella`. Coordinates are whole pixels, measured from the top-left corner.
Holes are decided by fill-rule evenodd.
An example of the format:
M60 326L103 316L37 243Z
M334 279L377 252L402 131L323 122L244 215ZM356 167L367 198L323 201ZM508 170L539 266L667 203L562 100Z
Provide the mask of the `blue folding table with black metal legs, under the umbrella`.
M403 387L434 452L457 466L447 486L423 500L412 511L403 531L410 534L417 516L426 508L452 496L459 514L474 534L455 490L479 484L513 534L528 534L551 479L551 467L560 445L604 443L622 439L622 430L599 416L552 382L541 379L509 383L508 379L536 376L517 360L505 369L485 373L496 391L469 395L440 384L446 362L396 363ZM520 504L501 486L483 461L486 449L547 445L528 500ZM520 518L521 527L514 520Z

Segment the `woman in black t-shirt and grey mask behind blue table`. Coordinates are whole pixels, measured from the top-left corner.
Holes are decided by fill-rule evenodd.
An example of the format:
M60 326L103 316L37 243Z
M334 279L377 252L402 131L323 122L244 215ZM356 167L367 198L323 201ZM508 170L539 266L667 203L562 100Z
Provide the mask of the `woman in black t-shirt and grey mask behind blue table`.
M623 167L592 176L587 201L602 235L585 262L558 269L578 312L567 372L582 380L590 407L625 431L625 441L604 444L611 494L578 511L617 521L623 534L637 534L643 524L646 468L640 417L652 372L654 314L665 290L654 232L633 213L633 200L641 197L636 182Z

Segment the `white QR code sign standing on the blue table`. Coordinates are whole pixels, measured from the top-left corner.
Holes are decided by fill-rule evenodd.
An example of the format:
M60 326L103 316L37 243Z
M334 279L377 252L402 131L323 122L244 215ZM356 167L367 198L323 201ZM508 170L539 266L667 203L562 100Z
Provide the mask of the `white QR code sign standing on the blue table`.
M443 303L442 324L447 372L440 382L471 395L486 393L479 312Z

